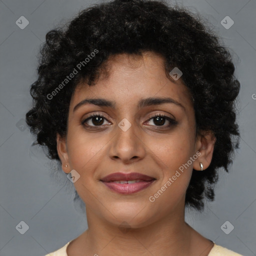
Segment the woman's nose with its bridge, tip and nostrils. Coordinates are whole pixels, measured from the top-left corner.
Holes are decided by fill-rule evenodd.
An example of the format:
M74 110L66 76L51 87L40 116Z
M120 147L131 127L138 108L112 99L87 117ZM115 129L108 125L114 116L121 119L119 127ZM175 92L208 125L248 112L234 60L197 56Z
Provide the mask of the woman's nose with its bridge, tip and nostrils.
M128 119L129 118L129 119ZM115 136L109 151L112 158L129 161L131 158L141 158L144 155L143 143L137 133L138 127L134 118L123 118L115 127Z

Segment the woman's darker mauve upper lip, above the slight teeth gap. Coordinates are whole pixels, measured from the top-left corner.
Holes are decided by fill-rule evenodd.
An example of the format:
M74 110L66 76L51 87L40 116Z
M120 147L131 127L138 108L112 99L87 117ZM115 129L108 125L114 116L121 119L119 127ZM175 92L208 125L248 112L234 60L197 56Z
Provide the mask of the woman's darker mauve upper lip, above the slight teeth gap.
M114 172L101 178L100 180L104 182L109 182L114 180L136 180L136 179L149 181L155 178L147 176L145 174L138 173L138 172L130 172L130 173Z

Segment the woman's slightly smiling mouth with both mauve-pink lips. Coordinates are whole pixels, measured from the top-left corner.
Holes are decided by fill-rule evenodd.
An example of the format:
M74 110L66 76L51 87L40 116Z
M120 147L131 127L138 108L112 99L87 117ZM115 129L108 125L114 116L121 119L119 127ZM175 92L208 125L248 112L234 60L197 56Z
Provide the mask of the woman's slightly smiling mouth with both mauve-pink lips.
M131 194L150 186L156 179L138 172L111 173L100 179L109 189L117 193Z

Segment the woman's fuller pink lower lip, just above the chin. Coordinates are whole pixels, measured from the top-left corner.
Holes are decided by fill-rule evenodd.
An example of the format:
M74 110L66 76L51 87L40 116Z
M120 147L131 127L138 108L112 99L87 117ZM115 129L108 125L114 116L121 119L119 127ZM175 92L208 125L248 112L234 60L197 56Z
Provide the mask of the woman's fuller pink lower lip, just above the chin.
M104 182L102 181L108 188L111 190L121 193L121 194L132 194L135 192L138 192L142 189L145 189L146 187L150 186L155 179L150 181L139 181L136 183L130 183L130 184L121 184L121 183L115 183L115 182Z

